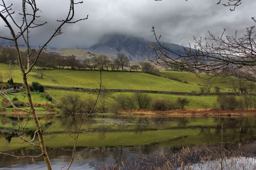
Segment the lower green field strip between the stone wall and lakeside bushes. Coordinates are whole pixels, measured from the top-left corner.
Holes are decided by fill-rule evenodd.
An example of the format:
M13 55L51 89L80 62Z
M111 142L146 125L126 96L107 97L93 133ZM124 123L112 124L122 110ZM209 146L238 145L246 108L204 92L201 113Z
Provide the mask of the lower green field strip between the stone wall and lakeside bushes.
M67 91L67 90L47 90L47 92L55 99L57 102L60 101L60 98L66 94L78 94L83 99L88 97L92 99L96 99L97 93L90 93L90 92L74 92L74 91ZM107 100L106 106L108 107L110 103L114 102L114 98L119 94L125 94L128 96L132 96L133 93L130 92L115 92L115 93L107 93ZM155 98L165 98L171 101L176 101L178 97L187 98L190 103L185 106L186 109L198 109L198 108L213 108L214 104L216 103L217 96L179 96L179 95L168 95L168 94L149 94L153 99ZM99 103L99 102L98 102Z

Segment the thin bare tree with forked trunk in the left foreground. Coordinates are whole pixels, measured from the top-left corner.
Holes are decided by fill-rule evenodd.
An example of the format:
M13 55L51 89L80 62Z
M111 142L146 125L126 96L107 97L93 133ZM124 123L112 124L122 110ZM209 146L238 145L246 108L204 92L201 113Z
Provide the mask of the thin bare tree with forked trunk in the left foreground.
M36 22L37 19L40 17L39 16L40 10L37 6L37 1L36 0L22 0L21 1L21 12L18 13L18 16L16 15L15 11L13 10L13 9L15 9L13 7L13 4L7 4L5 2L5 0L1 0L1 2L0 2L0 6L1 6L0 18L5 23L5 26L8 28L9 33L11 35L10 37L9 36L0 36L0 38L12 41L12 43L15 46L15 50L17 52L17 61L18 61L18 65L16 65L16 66L18 68L20 68L20 71L22 74L24 87L26 89L26 94L27 94L27 98L29 101L29 105L30 105L30 110L19 109L15 106L14 107L16 109L22 110L22 111L32 115L34 122L35 122L36 129L37 129L35 132L35 135L38 136L39 146L40 146L40 150L41 150L41 154L39 156L43 156L48 170L52 169L51 162L50 162L50 159L46 152L45 143L43 140L43 133L42 133L41 126L39 124L39 120L38 120L38 117L37 117L37 114L35 111L35 107L34 107L34 104L33 104L32 98L31 98L31 92L30 92L30 88L28 85L27 76L33 69L35 69L35 64L38 61L40 53L45 49L45 47L49 44L49 42L54 37L62 34L61 28L64 24L76 23L80 20L84 20L84 19L88 18L88 16L87 16L86 18L81 18L78 20L73 19L74 15L75 15L75 6L80 3L82 3L82 1L75 2L74 0L70 0L70 6L68 9L68 14L67 14L66 18L57 20L59 22L59 26L53 31L52 34L50 34L50 36L46 40L46 42L43 43L43 45L39 47L39 51L37 51L35 55L32 55L32 49L30 46L31 30L36 29L40 26L43 26L47 23L47 22L43 22L43 23ZM19 16L20 16L20 18L19 18ZM20 40L20 39L21 39L21 41L24 41L26 48L27 48L27 51L26 51L26 61L27 62L26 63L22 62L24 60L22 59L22 55L20 52L20 46L18 43L18 40ZM7 99L9 102L11 102L11 100L8 98L8 96L6 96L4 94L4 92L1 91L1 95L5 99ZM21 137L21 139L23 139L23 138ZM34 137L34 139L35 139L35 137ZM31 140L30 142L33 142L34 139ZM26 141L26 140L24 140L24 141ZM75 152L75 149L74 149L74 152ZM74 152L73 152L73 154L75 154ZM2 153L2 154L4 154L4 153ZM7 155L10 155L10 154L7 154ZM29 156L23 156L23 157L29 157ZM71 161L70 165L72 164L72 162L73 161Z

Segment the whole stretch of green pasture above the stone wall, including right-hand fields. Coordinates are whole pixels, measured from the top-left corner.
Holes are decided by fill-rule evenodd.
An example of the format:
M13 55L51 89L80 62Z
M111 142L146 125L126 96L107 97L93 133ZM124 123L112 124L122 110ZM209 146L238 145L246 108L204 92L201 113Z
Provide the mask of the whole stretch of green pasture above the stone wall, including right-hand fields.
M43 79L37 76L37 73L40 71L44 74ZM22 83L20 70L17 67L0 63L0 74L5 82L7 82L10 72L14 82ZM200 86L198 84L205 85L207 82L207 80L200 79L194 73L188 72L160 71L160 75L179 79L190 84L140 72L102 71L102 85L105 88L112 89L199 92ZM207 75L201 74L201 77L206 78ZM224 88L225 90L221 90L221 92L224 92L232 90L231 81L234 79L231 76L217 76L213 77L210 81L213 87L219 86ZM42 85L98 88L99 71L71 69L38 70L29 75L28 81L29 83L39 82ZM214 88L212 88L211 92L215 92Z

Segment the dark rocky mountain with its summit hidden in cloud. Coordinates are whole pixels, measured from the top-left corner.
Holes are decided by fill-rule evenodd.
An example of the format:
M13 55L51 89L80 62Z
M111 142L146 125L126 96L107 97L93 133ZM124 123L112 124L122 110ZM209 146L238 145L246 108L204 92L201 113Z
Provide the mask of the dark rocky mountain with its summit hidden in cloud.
M148 56L155 56L155 52L149 47L147 40L124 34L106 34L99 38L98 42L88 50L102 54L116 56L124 53L131 60L145 60ZM168 48L176 52L184 53L183 47L177 44L164 43ZM148 56L147 56L148 54Z

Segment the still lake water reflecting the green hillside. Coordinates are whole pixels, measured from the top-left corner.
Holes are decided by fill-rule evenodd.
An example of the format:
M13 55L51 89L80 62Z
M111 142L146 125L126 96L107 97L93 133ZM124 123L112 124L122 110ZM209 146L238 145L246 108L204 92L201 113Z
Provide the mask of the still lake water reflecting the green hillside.
M27 143L17 143L17 129L6 127L15 124L15 118L1 118L5 127L0 129L0 152L15 155L38 155L39 150ZM25 120L24 120L25 121ZM71 153L64 151L74 145L70 137L78 126L73 118L42 117L48 123L43 128L47 152L54 169L61 169L69 162ZM243 143L256 141L256 118L186 118L166 116L115 116L95 115L85 120L79 136L74 170L91 170L95 165L122 164L133 162L141 155L154 156L161 151L179 151L183 146L217 145L223 142ZM33 131L28 128L26 137ZM16 159L0 156L0 170L43 170L42 159Z

